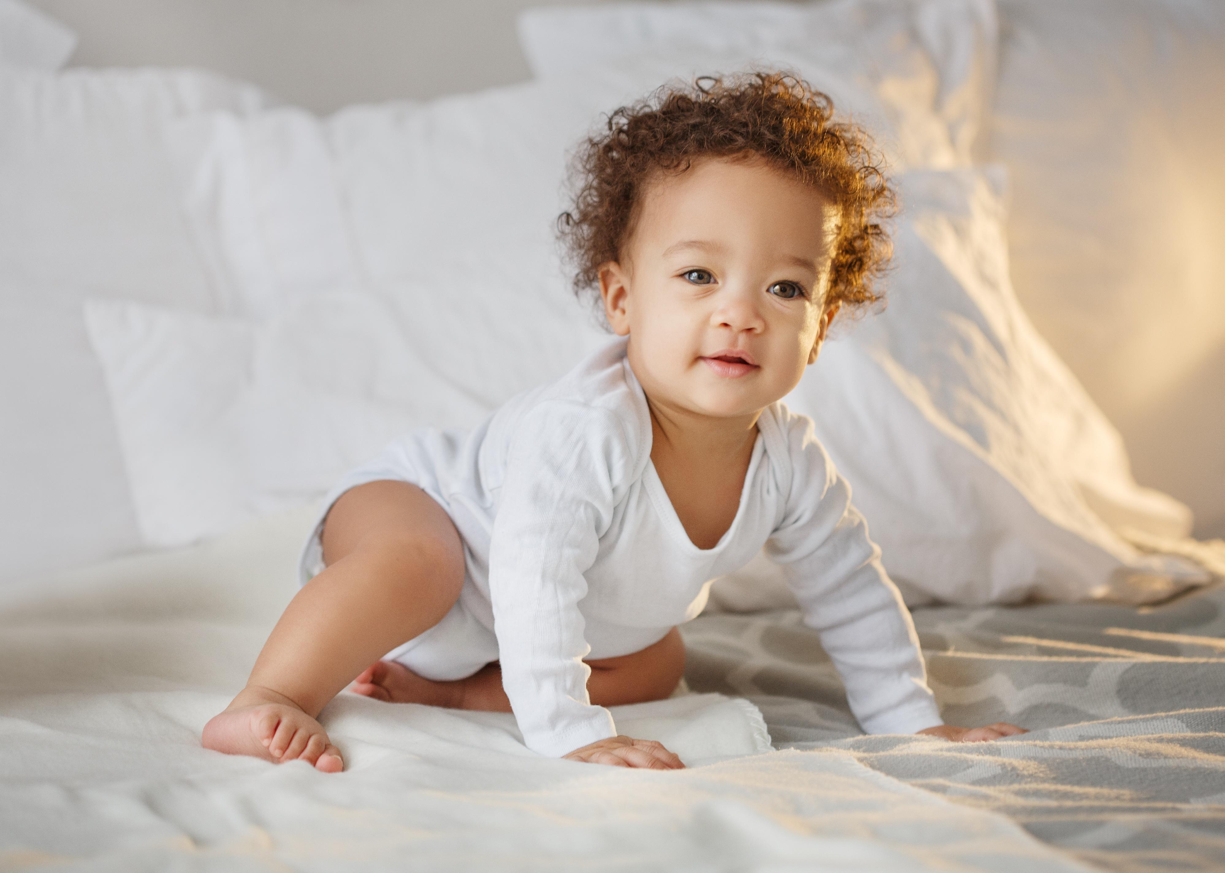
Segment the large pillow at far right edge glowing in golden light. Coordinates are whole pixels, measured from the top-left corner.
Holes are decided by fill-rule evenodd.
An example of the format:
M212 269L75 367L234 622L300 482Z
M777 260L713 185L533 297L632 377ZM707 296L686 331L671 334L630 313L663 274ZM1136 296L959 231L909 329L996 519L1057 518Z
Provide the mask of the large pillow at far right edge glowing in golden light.
M1000 9L1017 294L1137 476L1225 536L1225 4Z

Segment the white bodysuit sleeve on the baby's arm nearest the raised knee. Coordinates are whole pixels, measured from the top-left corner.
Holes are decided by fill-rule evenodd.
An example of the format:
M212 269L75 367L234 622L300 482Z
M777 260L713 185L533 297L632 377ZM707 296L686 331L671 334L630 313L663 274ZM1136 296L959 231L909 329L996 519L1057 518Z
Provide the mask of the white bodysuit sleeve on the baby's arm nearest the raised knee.
M578 602L628 463L616 416L566 400L524 413L507 452L490 542L494 632L523 740L545 755L616 736L587 694Z

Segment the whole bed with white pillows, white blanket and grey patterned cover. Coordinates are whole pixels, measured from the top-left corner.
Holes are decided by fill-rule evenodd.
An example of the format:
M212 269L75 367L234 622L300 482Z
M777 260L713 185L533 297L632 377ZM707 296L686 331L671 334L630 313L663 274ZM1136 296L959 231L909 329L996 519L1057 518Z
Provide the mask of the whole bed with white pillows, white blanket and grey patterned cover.
M72 34L0 0L0 869L1225 866L1225 455L1171 437L1145 469L1180 462L1177 500L1128 451L1154 410L1203 447L1225 408L1225 189L1178 175L1225 136L1225 16L1102 2L548 7L519 20L530 82L318 116L201 70L61 69ZM752 64L867 125L903 202L889 306L788 403L944 719L1030 732L864 736L760 558L682 628L677 693L615 714L682 773L353 694L322 714L338 776L201 748L332 482L604 342L551 235L567 149Z

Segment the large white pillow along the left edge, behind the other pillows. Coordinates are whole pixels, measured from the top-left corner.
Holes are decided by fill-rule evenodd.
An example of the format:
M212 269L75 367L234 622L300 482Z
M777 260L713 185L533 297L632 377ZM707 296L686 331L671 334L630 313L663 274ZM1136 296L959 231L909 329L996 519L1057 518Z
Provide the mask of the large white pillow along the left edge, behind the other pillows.
M224 310L163 138L254 88L189 71L0 70L0 580L140 546L85 296Z

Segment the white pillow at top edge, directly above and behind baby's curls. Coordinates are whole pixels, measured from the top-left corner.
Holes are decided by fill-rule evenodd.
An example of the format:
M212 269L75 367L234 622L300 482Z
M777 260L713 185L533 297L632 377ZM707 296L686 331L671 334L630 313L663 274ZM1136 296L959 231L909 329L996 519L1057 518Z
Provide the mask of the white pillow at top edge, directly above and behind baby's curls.
M909 165L936 167L980 154L998 40L992 0L599 4L532 9L518 28L541 77L643 54L786 65L818 87L837 71L880 102Z

